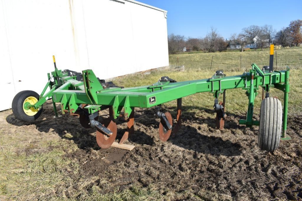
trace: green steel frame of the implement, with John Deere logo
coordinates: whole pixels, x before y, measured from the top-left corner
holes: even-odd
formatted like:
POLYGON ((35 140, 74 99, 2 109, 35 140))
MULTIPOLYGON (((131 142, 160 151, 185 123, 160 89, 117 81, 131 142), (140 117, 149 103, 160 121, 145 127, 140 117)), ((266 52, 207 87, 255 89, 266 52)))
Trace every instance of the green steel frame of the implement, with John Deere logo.
POLYGON ((254 101, 259 86, 269 91, 271 87, 284 92, 284 113, 282 138, 286 139, 288 93, 289 93, 289 68, 285 71, 268 72, 261 70, 255 63, 252 69, 243 75, 226 77, 225 75, 214 75, 209 79, 173 82, 158 81, 149 86, 132 88, 103 88, 92 70, 84 70, 83 81, 77 81, 76 76, 68 76, 56 68, 48 74, 48 82, 44 87, 39 101, 34 105, 28 103, 24 108, 41 108, 42 105, 52 98, 54 112, 57 116, 55 103, 61 103, 62 113, 74 113, 81 104, 88 104, 85 108, 89 113, 107 109, 113 106, 114 118, 120 116, 124 108, 124 116, 127 118, 135 107, 149 108, 169 101, 173 101, 195 93, 211 92, 218 98, 224 90, 242 88, 246 90, 249 97, 249 106, 246 120, 240 120, 240 124, 246 126, 259 126, 259 121, 252 120, 254 101), (51 81, 52 78, 54 81, 51 81), (46 92, 47 88, 50 91, 46 92), (152 101, 150 101, 152 100, 152 101))

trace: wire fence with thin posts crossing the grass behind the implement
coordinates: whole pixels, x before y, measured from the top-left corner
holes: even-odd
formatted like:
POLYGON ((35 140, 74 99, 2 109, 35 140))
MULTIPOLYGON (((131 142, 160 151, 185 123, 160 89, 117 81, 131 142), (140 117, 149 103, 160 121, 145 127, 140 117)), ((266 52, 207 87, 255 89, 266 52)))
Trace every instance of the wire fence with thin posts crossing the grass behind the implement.
MULTIPOLYGON (((193 54, 191 54, 193 55, 193 54)), ((190 55, 190 56, 191 56, 190 55)), ((260 68, 269 65, 267 55, 260 56, 232 56, 231 58, 221 58, 213 55, 204 58, 191 56, 192 58, 180 57, 170 58, 170 66, 184 66, 185 71, 198 70, 225 70, 225 71, 246 71, 251 68, 252 63, 256 63, 260 68)), ((300 55, 274 55, 274 69, 285 69, 289 66, 291 69, 302 68, 302 52, 300 55)))

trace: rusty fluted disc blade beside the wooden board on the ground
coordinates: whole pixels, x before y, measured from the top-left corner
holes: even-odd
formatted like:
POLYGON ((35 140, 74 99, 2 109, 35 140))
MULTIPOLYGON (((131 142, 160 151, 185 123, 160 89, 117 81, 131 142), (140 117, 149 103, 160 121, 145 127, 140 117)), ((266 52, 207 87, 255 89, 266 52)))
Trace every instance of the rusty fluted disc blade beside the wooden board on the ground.
POLYGON ((112 132, 112 136, 108 136, 99 130, 96 131, 96 142, 101 148, 105 149, 110 147, 115 141, 117 134, 117 126, 116 123, 110 117, 103 119, 101 121, 101 124, 112 132))

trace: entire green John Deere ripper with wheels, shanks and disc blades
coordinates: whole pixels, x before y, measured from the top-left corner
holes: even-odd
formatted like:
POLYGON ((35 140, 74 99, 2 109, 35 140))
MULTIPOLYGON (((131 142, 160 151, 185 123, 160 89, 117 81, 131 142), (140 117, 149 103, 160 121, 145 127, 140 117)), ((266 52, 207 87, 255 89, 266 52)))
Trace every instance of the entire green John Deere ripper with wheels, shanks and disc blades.
POLYGON ((239 124, 259 126, 258 145, 261 149, 275 151, 281 139, 286 137, 289 69, 273 71, 273 45, 271 45, 270 66, 260 69, 255 63, 252 69, 243 75, 226 77, 223 71, 217 71, 209 79, 176 82, 169 77, 162 77, 158 82, 141 87, 122 88, 112 82, 105 82, 95 76, 92 70, 77 73, 70 70, 58 70, 53 56, 55 71, 48 73, 48 82, 39 95, 34 91, 19 92, 12 102, 12 110, 16 118, 31 122, 36 120, 43 104, 52 98, 53 108, 57 116, 55 103, 61 103, 62 113, 79 116, 80 123, 85 128, 96 127, 96 141, 101 148, 108 148, 115 141, 117 126, 115 119, 124 116, 127 120, 127 132, 119 143, 122 144, 134 131, 134 108, 155 107, 155 113, 160 118, 159 138, 169 139, 171 133, 176 135, 181 125, 182 97, 200 92, 214 94, 214 110, 217 112, 217 129, 223 129, 225 121, 225 93, 227 89, 242 88, 249 98, 247 117, 239 124), (53 80, 53 81, 52 81, 53 80), (259 86, 262 91, 260 120, 253 120, 254 100, 259 86), (47 88, 50 91, 46 92, 47 88), (269 97, 271 87, 284 92, 284 109, 282 114, 281 102, 275 97, 269 97), (223 101, 219 102, 219 95, 223 101), (177 123, 172 126, 172 116, 169 112, 161 112, 163 103, 177 100, 177 123), (109 109, 109 117, 98 121, 100 110, 109 109), (124 110, 124 112, 122 112, 124 110), (282 126, 283 115, 283 126, 282 126))

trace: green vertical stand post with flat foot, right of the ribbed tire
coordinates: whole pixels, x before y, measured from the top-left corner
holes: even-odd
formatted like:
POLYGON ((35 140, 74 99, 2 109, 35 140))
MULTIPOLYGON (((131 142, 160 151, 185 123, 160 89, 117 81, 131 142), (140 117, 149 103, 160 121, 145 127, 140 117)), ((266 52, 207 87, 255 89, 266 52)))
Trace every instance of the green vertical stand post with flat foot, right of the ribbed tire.
POLYGON ((282 140, 291 139, 291 137, 286 136, 287 127, 287 112, 288 112, 288 92, 289 92, 289 69, 285 71, 284 80, 284 104, 283 104, 283 128, 282 128, 282 140))

